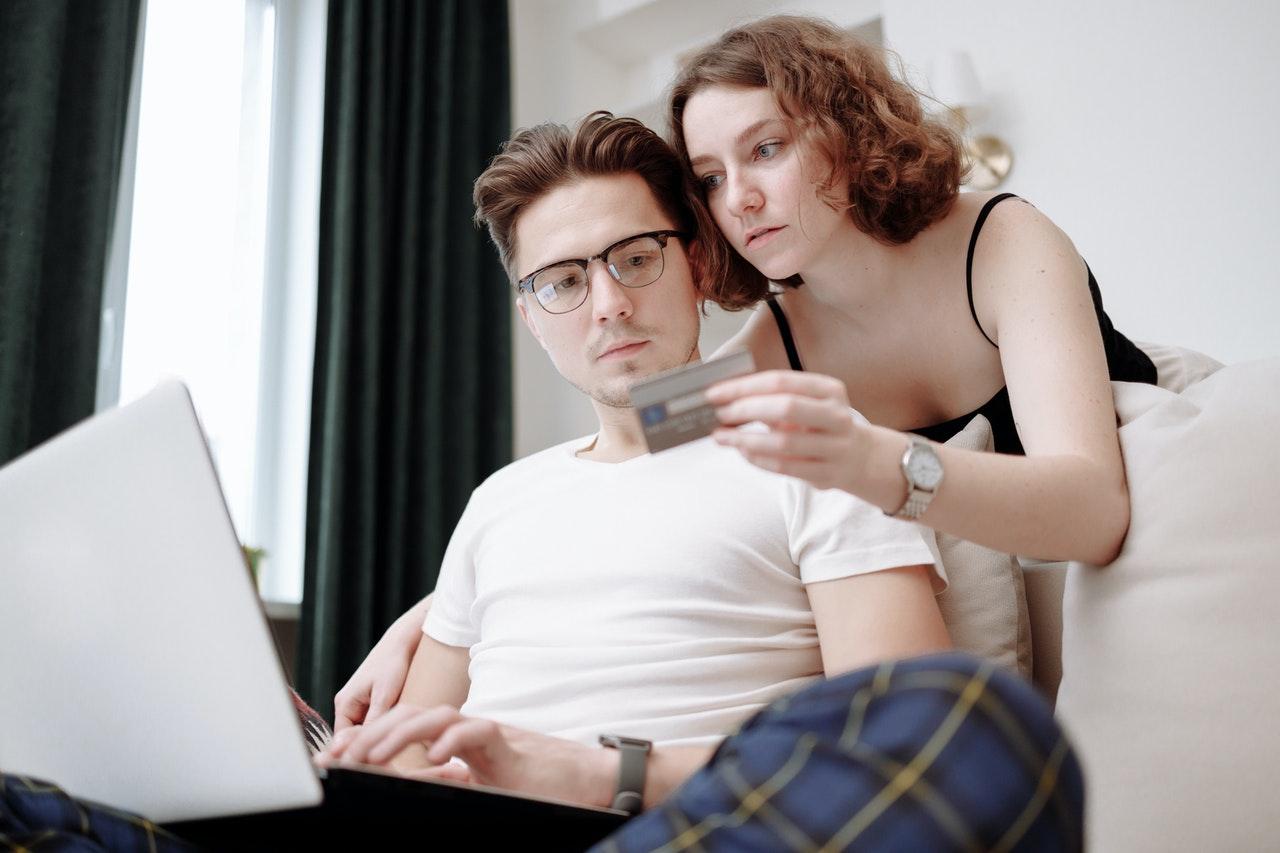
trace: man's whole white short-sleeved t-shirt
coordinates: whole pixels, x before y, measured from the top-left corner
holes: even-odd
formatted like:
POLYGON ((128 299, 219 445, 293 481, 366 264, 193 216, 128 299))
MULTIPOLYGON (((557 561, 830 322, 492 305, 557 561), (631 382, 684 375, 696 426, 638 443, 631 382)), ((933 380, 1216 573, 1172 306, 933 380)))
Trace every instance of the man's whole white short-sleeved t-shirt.
POLYGON ((709 438, 616 464, 589 441, 495 473, 458 521, 424 630, 471 649, 465 715, 710 745, 822 675, 806 583, 934 562, 914 524, 709 438))

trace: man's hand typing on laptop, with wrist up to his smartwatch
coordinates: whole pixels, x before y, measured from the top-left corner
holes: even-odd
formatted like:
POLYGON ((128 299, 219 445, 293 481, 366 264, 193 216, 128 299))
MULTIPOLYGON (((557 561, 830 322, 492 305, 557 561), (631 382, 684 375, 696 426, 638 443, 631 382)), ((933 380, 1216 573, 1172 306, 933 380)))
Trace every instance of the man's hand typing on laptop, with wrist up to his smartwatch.
POLYGON ((415 779, 452 779, 608 806, 618 774, 614 749, 462 716, 457 708, 398 704, 364 726, 335 735, 321 766, 384 766, 415 779), (449 763, 460 758, 466 766, 449 763))

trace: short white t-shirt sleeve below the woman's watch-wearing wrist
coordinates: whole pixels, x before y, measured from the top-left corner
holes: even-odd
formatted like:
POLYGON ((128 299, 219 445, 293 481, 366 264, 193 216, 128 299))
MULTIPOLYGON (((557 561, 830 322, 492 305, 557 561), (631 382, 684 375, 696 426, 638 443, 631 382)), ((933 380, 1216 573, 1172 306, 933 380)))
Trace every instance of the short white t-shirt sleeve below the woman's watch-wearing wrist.
POLYGON ((925 542, 928 532, 841 489, 819 491, 800 480, 788 485, 791 558, 803 583, 924 565, 932 570, 933 592, 946 589, 946 574, 925 542))

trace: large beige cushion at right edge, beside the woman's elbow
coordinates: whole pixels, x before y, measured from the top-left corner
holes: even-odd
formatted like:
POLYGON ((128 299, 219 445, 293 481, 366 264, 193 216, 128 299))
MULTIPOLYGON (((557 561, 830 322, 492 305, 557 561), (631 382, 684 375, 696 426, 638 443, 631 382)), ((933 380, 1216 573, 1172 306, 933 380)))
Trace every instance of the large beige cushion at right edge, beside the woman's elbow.
POLYGON ((1129 535, 1110 566, 1071 566, 1062 607, 1087 847, 1275 849, 1280 360, 1114 388, 1129 535))

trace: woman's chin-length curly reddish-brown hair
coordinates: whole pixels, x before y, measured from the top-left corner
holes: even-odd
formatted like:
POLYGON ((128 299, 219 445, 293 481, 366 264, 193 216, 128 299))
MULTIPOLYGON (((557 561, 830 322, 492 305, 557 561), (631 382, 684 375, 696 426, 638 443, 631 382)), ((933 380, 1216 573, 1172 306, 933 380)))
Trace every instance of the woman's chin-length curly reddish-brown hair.
MULTIPOLYGON (((890 73, 884 51, 815 18, 774 15, 730 29, 691 56, 671 91, 671 141, 687 169, 685 105, 709 86, 767 88, 782 118, 831 170, 819 197, 846 206, 859 229, 905 243, 951 209, 960 190, 960 140, 929 119, 919 93, 890 73)), ((687 192, 703 248, 704 295, 722 307, 754 305, 769 283, 719 233, 703 190, 687 192)), ((796 287, 794 275, 782 282, 796 287)))

